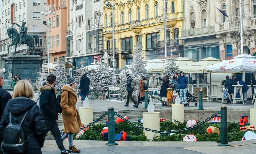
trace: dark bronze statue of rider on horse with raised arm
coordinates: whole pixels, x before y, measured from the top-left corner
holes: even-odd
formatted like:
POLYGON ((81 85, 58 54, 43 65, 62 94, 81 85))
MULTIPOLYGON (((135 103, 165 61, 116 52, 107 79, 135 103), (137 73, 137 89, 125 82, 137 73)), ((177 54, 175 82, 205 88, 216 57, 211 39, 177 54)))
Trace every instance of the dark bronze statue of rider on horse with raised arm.
POLYGON ((35 39, 35 42, 39 46, 38 35, 27 34, 27 27, 25 26, 26 22, 24 22, 24 20, 22 21, 22 26, 20 26, 17 23, 11 23, 11 24, 15 24, 15 25, 19 26, 20 32, 18 32, 13 27, 7 29, 9 38, 12 38, 12 43, 7 48, 8 53, 9 53, 10 46, 14 45, 14 52, 13 52, 13 55, 14 55, 18 44, 26 44, 29 47, 28 50, 26 51, 26 54, 28 55, 28 51, 33 48, 33 55, 34 55, 35 54, 35 46, 33 45, 33 43, 34 43, 34 39, 35 39))

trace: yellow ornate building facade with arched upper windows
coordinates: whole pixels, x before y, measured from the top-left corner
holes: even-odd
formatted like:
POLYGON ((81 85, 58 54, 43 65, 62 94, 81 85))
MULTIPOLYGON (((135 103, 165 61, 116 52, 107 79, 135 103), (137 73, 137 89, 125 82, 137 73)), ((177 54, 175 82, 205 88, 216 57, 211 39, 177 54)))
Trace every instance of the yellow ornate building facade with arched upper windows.
MULTIPOLYGON (((114 24, 115 68, 131 65, 137 43, 142 44, 143 60, 165 55, 163 0, 104 1, 104 51, 112 55, 112 24, 114 24), (113 20, 114 19, 114 20, 113 20)), ((184 25, 183 1, 167 0, 167 55, 183 56, 180 31, 184 25)), ((113 65, 111 63, 111 65, 113 65)))

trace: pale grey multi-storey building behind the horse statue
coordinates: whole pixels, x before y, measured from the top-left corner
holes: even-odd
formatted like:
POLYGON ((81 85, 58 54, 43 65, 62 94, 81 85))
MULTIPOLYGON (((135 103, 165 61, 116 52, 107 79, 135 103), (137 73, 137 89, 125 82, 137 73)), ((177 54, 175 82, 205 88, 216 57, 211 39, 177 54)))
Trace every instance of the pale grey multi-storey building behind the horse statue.
MULTIPOLYGON (((11 19, 13 22, 22 24, 25 20, 25 26, 27 27, 27 33, 30 35, 39 36, 39 47, 35 44, 35 54, 42 55, 42 44, 45 43, 43 39, 43 31, 45 31, 45 25, 42 23, 45 20, 45 16, 41 15, 40 12, 43 9, 43 4, 47 0, 2 0, 1 6, 1 51, 0 51, 0 69, 4 68, 3 58, 7 56, 7 48, 11 43, 11 39, 8 37, 7 30, 4 28, 5 25, 10 25, 5 21, 11 19)), ((16 25, 15 25, 16 26, 16 25)), ((20 28, 16 26, 19 31, 20 28)), ((16 54, 26 54, 25 51, 28 49, 27 45, 18 45, 16 54)), ((14 46, 10 47, 10 52, 14 51, 14 46)))

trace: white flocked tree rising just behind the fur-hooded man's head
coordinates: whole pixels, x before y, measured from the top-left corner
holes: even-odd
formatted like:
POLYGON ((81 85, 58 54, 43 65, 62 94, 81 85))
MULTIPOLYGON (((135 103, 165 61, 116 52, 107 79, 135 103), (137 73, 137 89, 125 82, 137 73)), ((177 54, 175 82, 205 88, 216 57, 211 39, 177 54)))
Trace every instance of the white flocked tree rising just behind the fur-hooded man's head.
POLYGON ((56 75, 56 95, 59 95, 62 91, 62 87, 67 83, 67 71, 65 69, 65 59, 61 57, 57 66, 54 68, 53 74, 56 75))

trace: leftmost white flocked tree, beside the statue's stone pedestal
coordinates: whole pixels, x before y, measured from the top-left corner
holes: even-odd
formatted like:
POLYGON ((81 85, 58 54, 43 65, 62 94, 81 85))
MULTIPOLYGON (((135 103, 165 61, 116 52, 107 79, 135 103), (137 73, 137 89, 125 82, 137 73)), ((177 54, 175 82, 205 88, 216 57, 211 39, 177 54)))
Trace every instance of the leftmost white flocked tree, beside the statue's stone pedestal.
POLYGON ((35 93, 38 93, 38 88, 44 84, 44 82, 47 81, 47 76, 49 75, 47 67, 40 68, 40 71, 38 72, 39 76, 35 83, 33 84, 33 89, 35 93))

